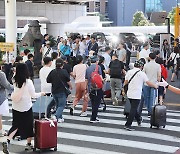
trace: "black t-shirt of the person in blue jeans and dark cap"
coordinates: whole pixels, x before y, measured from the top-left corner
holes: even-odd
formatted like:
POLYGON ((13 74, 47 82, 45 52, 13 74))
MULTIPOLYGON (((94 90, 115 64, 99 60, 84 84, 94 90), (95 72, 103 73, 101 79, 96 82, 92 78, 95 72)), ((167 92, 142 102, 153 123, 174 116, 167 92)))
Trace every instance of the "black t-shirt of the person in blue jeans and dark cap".
POLYGON ((67 82, 69 81, 70 77, 65 69, 56 68, 52 70, 47 77, 47 83, 52 83, 52 94, 65 92, 64 85, 68 87, 67 82))

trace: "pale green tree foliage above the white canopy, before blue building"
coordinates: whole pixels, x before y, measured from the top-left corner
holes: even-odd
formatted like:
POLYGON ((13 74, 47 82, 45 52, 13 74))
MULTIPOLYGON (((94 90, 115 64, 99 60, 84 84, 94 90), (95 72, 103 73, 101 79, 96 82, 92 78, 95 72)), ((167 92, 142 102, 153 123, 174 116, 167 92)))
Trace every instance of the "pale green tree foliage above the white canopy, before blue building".
POLYGON ((144 16, 144 13, 142 11, 137 11, 133 15, 133 26, 152 26, 153 23, 150 23, 147 18, 144 16))

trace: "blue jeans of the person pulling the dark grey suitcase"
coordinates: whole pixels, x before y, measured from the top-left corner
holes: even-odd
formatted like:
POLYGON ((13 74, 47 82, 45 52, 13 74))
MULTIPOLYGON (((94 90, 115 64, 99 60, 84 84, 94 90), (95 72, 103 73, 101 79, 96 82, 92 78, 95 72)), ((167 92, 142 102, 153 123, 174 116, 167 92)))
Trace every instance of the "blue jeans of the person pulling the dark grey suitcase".
POLYGON ((143 87, 143 93, 144 93, 144 103, 147 107, 148 114, 152 113, 152 107, 155 103, 156 99, 156 89, 149 87, 149 86, 144 86, 143 87))

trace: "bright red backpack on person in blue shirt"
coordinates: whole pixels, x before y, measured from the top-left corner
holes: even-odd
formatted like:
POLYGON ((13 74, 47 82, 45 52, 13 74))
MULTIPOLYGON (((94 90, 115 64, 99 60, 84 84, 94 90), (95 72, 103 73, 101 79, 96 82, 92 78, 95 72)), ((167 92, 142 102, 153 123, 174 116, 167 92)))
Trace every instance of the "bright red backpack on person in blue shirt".
POLYGON ((103 87, 102 77, 98 73, 98 65, 95 70, 91 73, 91 86, 92 89, 101 89, 103 87))

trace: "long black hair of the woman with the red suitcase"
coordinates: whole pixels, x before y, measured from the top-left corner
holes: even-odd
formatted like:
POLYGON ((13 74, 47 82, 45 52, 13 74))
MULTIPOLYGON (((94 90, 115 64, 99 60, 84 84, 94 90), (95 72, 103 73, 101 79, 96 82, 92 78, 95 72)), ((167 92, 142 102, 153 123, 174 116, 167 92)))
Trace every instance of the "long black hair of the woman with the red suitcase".
POLYGON ((24 63, 19 63, 16 66, 16 74, 14 76, 15 84, 18 88, 21 88, 26 79, 29 79, 29 72, 27 65, 24 63))

